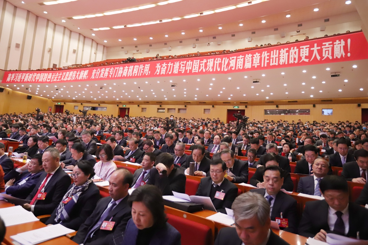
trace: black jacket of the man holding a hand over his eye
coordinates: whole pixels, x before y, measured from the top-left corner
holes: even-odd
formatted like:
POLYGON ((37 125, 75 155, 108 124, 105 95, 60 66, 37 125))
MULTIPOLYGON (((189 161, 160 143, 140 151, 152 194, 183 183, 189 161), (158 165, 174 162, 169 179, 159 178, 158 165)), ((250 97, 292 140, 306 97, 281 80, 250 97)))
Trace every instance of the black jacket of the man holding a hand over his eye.
POLYGON ((149 174, 147 184, 156 185, 163 196, 173 195, 173 191, 185 193, 185 177, 184 170, 178 165, 174 165, 174 169, 170 175, 162 175, 156 168, 152 168, 149 174))

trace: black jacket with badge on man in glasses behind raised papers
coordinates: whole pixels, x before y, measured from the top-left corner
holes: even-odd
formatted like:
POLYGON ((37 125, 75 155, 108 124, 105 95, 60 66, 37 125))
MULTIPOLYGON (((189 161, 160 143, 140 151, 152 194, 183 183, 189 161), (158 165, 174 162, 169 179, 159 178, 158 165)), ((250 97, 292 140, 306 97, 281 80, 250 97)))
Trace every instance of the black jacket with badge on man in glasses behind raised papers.
POLYGON ((195 195, 210 197, 216 211, 226 213, 225 208, 231 209, 231 205, 238 195, 238 187, 236 187, 236 185, 231 183, 228 179, 224 178, 221 185, 217 189, 214 189, 211 177, 205 177, 201 179, 201 183, 199 184, 197 193, 195 195), (223 200, 215 198, 216 191, 225 193, 223 200))

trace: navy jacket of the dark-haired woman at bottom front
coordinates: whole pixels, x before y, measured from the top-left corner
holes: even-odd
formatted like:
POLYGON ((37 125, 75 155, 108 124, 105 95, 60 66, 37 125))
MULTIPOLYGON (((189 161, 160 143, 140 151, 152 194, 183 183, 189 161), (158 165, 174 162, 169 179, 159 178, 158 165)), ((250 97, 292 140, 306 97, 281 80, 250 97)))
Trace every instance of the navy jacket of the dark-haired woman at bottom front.
MULTIPOLYGON (((114 244, 137 244, 138 228, 132 219, 128 221, 124 237, 114 239, 114 244)), ((150 245, 180 245, 180 233, 169 223, 158 229, 152 236, 150 245)))

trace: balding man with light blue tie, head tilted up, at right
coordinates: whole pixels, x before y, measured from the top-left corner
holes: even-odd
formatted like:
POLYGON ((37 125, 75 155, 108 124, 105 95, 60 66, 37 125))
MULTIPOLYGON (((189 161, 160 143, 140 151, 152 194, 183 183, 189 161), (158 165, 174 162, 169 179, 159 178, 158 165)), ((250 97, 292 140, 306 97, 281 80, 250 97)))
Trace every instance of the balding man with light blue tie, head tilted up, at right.
POLYGON ((297 192, 321 197, 319 181, 328 174, 330 170, 329 164, 325 159, 317 158, 312 165, 312 170, 313 175, 299 179, 297 192))

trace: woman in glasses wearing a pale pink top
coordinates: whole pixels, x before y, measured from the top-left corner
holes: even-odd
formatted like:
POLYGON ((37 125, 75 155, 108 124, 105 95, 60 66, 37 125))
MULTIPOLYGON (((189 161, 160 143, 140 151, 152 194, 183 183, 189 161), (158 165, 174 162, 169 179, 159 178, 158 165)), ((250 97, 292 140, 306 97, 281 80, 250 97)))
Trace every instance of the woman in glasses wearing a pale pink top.
POLYGON ((113 162, 113 148, 109 144, 101 145, 96 151, 96 157, 100 160, 93 167, 96 175, 103 180, 109 181, 110 176, 117 169, 116 164, 113 162))

